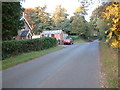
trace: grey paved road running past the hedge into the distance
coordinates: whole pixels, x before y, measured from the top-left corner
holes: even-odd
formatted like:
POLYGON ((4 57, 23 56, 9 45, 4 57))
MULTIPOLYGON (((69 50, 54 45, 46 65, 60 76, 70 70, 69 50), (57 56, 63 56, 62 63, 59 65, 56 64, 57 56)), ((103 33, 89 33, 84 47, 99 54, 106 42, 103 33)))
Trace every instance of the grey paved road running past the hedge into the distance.
POLYGON ((99 43, 76 43, 3 71, 3 88, 99 88, 99 43))

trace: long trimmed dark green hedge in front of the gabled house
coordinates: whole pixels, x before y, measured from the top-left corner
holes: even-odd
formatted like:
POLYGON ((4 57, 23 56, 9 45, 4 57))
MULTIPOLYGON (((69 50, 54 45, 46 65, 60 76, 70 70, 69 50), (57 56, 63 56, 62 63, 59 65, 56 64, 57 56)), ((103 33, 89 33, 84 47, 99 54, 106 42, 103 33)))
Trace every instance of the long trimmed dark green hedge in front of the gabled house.
POLYGON ((54 37, 3 41, 2 60, 25 52, 48 49, 56 45, 57 45, 57 40, 54 37))

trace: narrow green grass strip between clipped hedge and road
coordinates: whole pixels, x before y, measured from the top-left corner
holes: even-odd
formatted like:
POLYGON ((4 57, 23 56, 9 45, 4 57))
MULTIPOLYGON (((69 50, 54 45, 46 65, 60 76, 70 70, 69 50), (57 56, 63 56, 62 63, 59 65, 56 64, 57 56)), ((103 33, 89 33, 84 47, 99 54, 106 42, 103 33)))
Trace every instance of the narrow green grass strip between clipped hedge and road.
POLYGON ((2 63, 2 68, 0 67, 0 70, 1 69, 4 70, 4 69, 7 69, 9 67, 15 66, 17 64, 21 64, 21 63, 30 61, 32 59, 35 59, 37 57, 43 56, 45 54, 48 54, 50 52, 53 52, 53 51, 56 51, 56 50, 59 50, 59 49, 62 49, 62 48, 63 47, 61 47, 61 46, 56 46, 56 47, 49 48, 49 49, 42 50, 42 51, 34 51, 34 52, 29 52, 29 53, 23 53, 23 54, 18 55, 18 56, 7 58, 3 61, 0 61, 0 64, 2 63))

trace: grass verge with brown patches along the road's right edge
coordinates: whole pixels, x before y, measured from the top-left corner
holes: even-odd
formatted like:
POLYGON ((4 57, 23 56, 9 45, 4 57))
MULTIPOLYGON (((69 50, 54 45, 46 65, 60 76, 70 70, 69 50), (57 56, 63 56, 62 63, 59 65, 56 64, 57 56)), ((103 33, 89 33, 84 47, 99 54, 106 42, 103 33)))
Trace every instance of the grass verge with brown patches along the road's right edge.
POLYGON ((118 88, 118 54, 112 48, 100 43, 102 68, 106 74, 108 88, 118 88))

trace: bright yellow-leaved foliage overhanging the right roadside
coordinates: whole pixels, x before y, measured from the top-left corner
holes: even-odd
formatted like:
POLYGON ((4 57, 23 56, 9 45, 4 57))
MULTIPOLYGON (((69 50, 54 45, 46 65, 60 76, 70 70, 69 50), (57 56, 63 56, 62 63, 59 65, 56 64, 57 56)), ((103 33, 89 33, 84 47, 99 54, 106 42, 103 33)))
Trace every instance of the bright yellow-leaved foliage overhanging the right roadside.
POLYGON ((118 2, 104 3, 93 11, 91 21, 101 37, 113 48, 120 48, 119 30, 119 6, 118 2))

